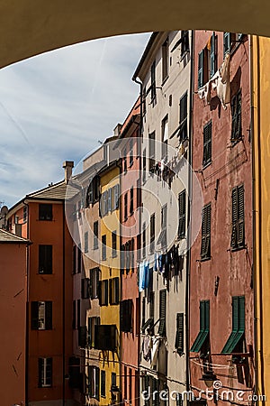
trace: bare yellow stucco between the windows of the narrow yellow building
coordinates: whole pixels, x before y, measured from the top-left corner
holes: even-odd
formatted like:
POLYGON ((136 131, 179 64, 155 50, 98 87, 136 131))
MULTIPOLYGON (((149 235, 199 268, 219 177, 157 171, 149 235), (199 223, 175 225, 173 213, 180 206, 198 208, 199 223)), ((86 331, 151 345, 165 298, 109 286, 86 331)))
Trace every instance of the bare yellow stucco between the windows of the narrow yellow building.
MULTIPOLYGON (((101 176, 101 193, 106 189, 112 188, 119 183, 119 168, 113 167, 111 170, 106 171, 101 176)), ((120 275, 120 258, 112 258, 112 231, 117 233, 117 249, 119 250, 119 234, 120 234, 120 212, 119 209, 110 212, 108 215, 101 218, 101 236, 106 235, 107 243, 107 258, 101 261, 101 280, 110 280, 111 278, 121 277, 120 275)), ((121 283, 121 282, 120 282, 121 283)), ((119 285, 120 286, 120 285, 119 285)), ((115 324, 117 327, 117 352, 106 352, 100 360, 100 370, 105 371, 105 389, 106 397, 100 398, 101 405, 112 403, 112 373, 116 374, 116 384, 120 387, 120 309, 119 305, 101 306, 100 309, 101 324, 115 324)), ((116 403, 118 400, 116 400, 116 403)))

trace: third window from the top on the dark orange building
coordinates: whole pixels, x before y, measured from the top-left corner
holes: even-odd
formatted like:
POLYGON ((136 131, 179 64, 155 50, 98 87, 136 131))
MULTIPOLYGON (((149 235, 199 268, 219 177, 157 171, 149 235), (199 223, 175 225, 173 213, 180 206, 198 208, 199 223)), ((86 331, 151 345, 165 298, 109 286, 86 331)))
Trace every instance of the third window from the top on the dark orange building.
POLYGON ((31 302, 31 329, 51 330, 52 328, 52 301, 31 302))

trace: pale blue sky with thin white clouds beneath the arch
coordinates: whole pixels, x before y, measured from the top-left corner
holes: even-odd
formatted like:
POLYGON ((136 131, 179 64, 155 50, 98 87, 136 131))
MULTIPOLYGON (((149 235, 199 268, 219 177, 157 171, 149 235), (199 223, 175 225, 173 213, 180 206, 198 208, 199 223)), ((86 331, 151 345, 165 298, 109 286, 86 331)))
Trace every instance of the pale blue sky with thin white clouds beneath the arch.
POLYGON ((149 33, 83 42, 0 70, 0 207, 64 178, 139 96, 149 33))

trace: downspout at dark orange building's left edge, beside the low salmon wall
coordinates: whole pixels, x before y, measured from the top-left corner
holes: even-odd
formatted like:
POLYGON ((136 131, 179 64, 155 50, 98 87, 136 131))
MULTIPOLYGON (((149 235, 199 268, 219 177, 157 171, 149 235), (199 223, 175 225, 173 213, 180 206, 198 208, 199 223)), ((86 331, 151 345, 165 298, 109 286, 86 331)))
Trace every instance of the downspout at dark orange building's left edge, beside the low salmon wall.
MULTIPOLYGON (((30 224, 29 224, 29 204, 23 205, 27 208, 27 238, 30 240, 30 224)), ((30 274, 30 245, 26 248, 26 331, 25 331, 25 406, 29 404, 29 390, 28 390, 28 365, 29 365, 29 274, 30 274)))

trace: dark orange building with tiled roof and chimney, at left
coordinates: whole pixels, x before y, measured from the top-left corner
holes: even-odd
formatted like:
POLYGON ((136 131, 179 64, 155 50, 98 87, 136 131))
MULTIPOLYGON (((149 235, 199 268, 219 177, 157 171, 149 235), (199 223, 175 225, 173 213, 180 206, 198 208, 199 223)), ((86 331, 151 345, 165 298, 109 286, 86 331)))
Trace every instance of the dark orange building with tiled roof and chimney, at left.
MULTIPOLYGON (((66 175, 73 162, 66 162, 66 175), (69 168, 68 168, 69 167, 69 168)), ((10 209, 8 228, 31 239, 26 310, 25 404, 72 405, 72 239, 65 180, 27 195, 10 209), (64 403, 65 402, 65 403, 64 403)))

